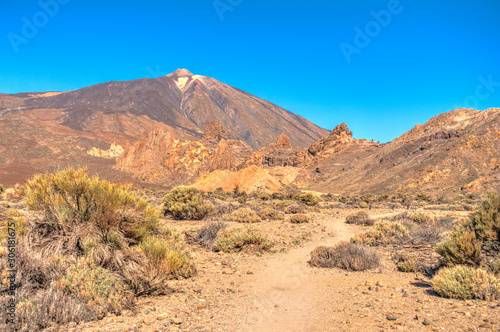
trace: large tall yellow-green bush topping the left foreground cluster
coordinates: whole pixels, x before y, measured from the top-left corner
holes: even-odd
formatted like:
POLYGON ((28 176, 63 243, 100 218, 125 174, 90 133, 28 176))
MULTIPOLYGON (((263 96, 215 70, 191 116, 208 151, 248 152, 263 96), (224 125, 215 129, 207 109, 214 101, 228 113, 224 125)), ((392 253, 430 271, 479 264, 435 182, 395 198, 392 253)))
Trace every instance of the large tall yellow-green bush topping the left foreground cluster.
POLYGON ((136 196, 131 186, 91 178, 85 169, 36 175, 28 181, 26 203, 43 219, 31 225, 30 236, 50 255, 55 248, 81 254, 80 244, 90 240, 110 249, 117 238, 123 246, 140 242, 158 230, 158 213, 136 196))

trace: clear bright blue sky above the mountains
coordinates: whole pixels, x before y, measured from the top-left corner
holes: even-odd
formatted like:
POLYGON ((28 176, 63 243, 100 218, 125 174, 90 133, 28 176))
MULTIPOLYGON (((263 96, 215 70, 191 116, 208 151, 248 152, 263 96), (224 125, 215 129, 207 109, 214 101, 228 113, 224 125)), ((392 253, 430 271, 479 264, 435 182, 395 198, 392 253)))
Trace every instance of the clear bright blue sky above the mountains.
POLYGON ((187 68, 324 128, 346 122, 355 137, 381 142, 456 107, 500 107, 498 0, 0 6, 3 93, 67 91, 187 68))

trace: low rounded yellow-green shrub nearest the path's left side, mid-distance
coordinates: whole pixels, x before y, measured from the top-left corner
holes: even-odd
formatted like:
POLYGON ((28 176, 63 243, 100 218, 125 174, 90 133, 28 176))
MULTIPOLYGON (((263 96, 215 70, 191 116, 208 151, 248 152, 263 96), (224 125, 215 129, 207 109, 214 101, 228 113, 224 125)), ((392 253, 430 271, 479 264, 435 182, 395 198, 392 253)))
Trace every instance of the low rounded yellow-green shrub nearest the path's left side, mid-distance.
POLYGON ((219 232, 215 240, 216 251, 237 252, 246 246, 268 249, 271 244, 267 236, 250 227, 235 227, 219 232))

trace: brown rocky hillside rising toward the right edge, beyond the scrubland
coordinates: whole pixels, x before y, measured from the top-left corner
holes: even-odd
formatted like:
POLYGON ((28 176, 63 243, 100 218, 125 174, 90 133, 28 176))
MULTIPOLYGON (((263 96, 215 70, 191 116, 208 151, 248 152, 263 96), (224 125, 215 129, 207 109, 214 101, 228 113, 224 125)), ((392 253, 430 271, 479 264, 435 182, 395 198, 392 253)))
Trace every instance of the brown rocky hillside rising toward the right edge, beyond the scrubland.
MULTIPOLYGON (((318 146, 327 146, 325 141, 313 144, 313 151, 323 151, 318 146)), ((309 164, 301 185, 346 193, 433 195, 500 189, 498 108, 440 114, 383 145, 364 141, 341 150, 333 146, 333 153, 319 153, 309 164)))

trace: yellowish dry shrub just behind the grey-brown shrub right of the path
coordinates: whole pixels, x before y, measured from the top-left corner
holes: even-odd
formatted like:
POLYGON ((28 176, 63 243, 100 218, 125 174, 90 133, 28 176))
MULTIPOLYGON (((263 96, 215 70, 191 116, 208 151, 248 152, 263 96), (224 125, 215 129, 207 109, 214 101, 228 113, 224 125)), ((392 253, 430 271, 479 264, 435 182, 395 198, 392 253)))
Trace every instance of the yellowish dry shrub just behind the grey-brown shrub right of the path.
POLYGON ((401 223, 381 220, 375 222, 373 230, 354 235, 351 238, 351 242, 378 246, 402 243, 408 240, 409 237, 410 233, 408 229, 401 223))

